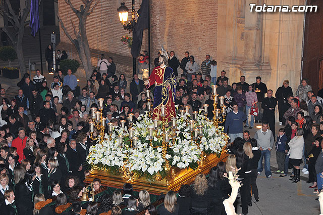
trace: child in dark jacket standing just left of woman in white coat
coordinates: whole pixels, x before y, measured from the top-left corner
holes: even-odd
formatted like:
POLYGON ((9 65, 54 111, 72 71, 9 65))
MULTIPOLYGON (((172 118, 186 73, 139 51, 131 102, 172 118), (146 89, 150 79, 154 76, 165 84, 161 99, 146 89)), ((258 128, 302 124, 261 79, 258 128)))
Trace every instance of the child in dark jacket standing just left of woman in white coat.
POLYGON ((286 141, 287 136, 285 135, 285 128, 282 127, 279 130, 276 142, 276 160, 278 164, 277 173, 284 172, 286 141))

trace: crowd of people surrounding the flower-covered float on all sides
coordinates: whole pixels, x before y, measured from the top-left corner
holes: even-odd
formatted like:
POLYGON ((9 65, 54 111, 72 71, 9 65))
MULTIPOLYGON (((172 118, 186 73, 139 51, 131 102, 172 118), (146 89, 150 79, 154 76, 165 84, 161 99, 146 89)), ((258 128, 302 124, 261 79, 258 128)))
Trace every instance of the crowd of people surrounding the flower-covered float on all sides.
MULTIPOLYGON (((93 70, 81 92, 77 90, 78 81, 71 69, 65 76, 58 70, 48 84, 39 70, 34 77, 26 73, 18 83, 20 89, 14 98, 9 98, 6 90, 1 89, 1 214, 49 214, 34 209, 33 203, 54 196, 55 207, 73 202, 74 214, 79 212, 81 206, 84 207, 75 200, 84 191, 82 182, 88 174, 86 157, 90 146, 96 144, 89 138, 91 108, 98 108, 97 99, 103 98, 103 116, 106 123, 112 122, 115 127, 120 126, 121 120, 127 120, 130 113, 134 114, 135 120, 144 114, 147 111, 144 87, 144 80, 148 78, 147 59, 147 53, 140 55, 138 64, 145 65, 133 75, 130 83, 125 74, 119 77, 115 74, 113 59, 106 60, 102 55, 97 70, 93 70)), ((158 65, 158 58, 154 63, 158 65)), ((105 199, 101 198, 99 207, 96 203, 89 203, 86 205, 87 214, 98 214, 97 211, 103 210, 120 214, 121 202, 127 207, 123 214, 136 214, 142 210, 146 210, 146 215, 225 214, 222 202, 229 197, 231 187, 224 173, 232 171, 232 168, 234 171, 240 168, 241 206, 243 214, 247 214, 248 206, 252 205, 250 193, 259 201, 256 178, 263 170, 263 159, 265 175, 268 179, 272 177, 270 158, 274 147, 277 173, 281 177, 287 176, 288 169, 293 168, 292 181, 299 182, 300 165, 303 163, 302 171, 308 174, 308 183, 313 183, 310 188, 322 189, 323 99, 312 91, 306 79, 302 80, 295 96, 289 81, 284 80, 275 98, 273 90, 267 89, 260 76, 252 84, 245 82, 246 77, 241 76, 240 82, 232 82, 231 85, 225 70, 217 77, 217 62, 211 61, 209 55, 199 66, 188 52, 181 62, 171 52, 168 63, 176 76, 179 76, 178 67, 183 70, 177 78, 174 102, 179 109, 188 106, 191 115, 192 111, 199 111, 204 104, 208 104, 207 117, 213 117, 211 85, 218 86, 217 93, 219 97, 224 97, 226 105, 224 131, 231 140, 228 147, 231 154, 227 162, 213 167, 208 179, 198 175, 191 187, 183 185, 177 197, 170 191, 158 209, 150 205, 147 191, 140 191, 136 197, 132 195, 132 186, 126 184, 123 197, 118 191, 112 196, 104 196, 105 199), (277 105, 282 127, 276 136, 277 105), (251 139, 249 130, 255 123, 261 123, 262 128, 251 139)), ((153 98, 152 93, 150 97, 153 98)), ((94 129, 93 137, 98 135, 94 129)), ((98 179, 95 182, 98 187, 101 186, 98 179)), ((55 213, 55 209, 51 211, 55 213)))

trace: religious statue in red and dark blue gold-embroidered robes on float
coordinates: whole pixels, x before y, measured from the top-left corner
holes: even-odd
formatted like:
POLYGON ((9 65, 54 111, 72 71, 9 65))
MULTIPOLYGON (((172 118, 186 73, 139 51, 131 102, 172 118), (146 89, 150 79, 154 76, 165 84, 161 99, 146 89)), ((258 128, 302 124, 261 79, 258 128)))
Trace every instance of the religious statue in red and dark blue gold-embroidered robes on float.
POLYGON ((161 120, 160 106, 166 106, 167 122, 171 121, 175 114, 175 92, 176 92, 176 77, 171 67, 166 66, 168 54, 165 50, 160 51, 161 55, 158 59, 159 66, 155 67, 150 74, 150 77, 145 80, 144 85, 149 88, 155 84, 153 96, 153 113, 152 118, 161 120))

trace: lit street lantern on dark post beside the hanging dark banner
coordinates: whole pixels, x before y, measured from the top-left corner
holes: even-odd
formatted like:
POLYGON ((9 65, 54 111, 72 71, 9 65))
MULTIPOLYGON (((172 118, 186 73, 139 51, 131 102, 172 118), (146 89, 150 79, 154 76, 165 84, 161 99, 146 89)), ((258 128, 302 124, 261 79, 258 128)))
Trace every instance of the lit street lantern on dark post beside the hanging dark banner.
MULTIPOLYGON (((128 21, 128 12, 129 9, 125 6, 125 3, 121 3, 121 6, 117 9, 119 13, 119 19, 120 22, 122 22, 123 27, 125 30, 129 30, 129 33, 132 32, 132 38, 134 37, 134 29, 136 25, 135 20, 135 0, 132 0, 132 9, 131 9, 131 20, 128 24, 126 22, 128 21)), ((150 54, 150 53, 149 53, 150 54)), ((136 74, 136 59, 132 57, 132 68, 133 68, 133 74, 136 74)))

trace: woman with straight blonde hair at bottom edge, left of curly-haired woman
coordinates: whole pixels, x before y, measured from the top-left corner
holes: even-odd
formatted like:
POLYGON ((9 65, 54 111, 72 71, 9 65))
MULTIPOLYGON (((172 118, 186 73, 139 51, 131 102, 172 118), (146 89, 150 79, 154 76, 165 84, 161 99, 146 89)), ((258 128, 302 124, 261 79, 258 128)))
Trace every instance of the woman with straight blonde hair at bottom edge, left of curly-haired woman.
POLYGON ((164 204, 160 205, 157 209, 158 214, 177 215, 180 206, 177 204, 176 193, 174 191, 168 191, 164 204))

